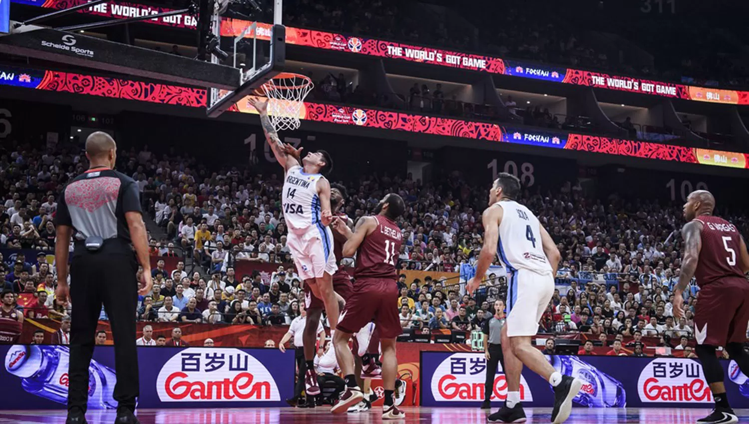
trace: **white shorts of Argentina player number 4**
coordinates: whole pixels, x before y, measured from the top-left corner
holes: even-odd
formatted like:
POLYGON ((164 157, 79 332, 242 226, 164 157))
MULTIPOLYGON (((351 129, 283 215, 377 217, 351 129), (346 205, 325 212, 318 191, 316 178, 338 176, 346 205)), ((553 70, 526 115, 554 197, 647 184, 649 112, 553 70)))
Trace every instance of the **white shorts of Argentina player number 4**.
POLYGON ((535 336, 539 321, 554 295, 551 273, 538 274, 528 269, 507 272, 507 337, 535 336))

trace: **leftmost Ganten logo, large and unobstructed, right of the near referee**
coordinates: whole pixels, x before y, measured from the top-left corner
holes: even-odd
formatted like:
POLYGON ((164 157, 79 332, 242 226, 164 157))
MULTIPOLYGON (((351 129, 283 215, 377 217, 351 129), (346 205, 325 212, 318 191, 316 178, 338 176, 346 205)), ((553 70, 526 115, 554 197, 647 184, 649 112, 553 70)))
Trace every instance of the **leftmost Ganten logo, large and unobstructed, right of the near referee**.
POLYGON ((276 381, 251 354, 239 349, 187 348, 159 372, 162 402, 273 402, 276 381))

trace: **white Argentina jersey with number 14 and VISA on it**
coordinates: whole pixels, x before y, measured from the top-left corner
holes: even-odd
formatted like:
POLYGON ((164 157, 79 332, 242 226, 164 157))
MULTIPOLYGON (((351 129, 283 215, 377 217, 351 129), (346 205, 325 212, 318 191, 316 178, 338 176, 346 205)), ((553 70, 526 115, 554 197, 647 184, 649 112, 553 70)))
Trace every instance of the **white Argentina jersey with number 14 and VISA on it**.
POLYGON ((289 168, 283 183, 281 208, 289 230, 305 232, 320 222, 320 173, 305 173, 299 165, 289 168))

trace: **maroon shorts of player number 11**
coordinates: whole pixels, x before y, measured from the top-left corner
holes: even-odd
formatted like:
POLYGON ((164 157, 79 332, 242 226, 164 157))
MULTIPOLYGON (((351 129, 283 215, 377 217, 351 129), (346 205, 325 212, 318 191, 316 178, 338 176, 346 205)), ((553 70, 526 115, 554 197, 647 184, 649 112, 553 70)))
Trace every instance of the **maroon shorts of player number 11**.
POLYGON ((337 330, 356 333, 374 321, 381 339, 403 333, 398 319, 398 285, 392 278, 357 278, 357 289, 346 301, 337 330))

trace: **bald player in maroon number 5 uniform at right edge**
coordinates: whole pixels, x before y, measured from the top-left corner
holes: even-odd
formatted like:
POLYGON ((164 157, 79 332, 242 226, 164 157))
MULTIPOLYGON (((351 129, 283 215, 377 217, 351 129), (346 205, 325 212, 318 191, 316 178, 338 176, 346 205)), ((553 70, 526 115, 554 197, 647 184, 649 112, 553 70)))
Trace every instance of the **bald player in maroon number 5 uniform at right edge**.
POLYGON ((715 349, 724 346, 739 369, 749 375, 749 354, 744 351, 749 322, 749 253, 736 226, 712 215, 715 197, 709 191, 692 191, 684 205, 687 224, 682 228, 684 259, 679 283, 673 292, 673 315, 683 314, 683 293, 694 276, 700 286, 694 311, 697 357, 703 364, 715 409, 697 423, 738 423, 726 397, 723 367, 715 349))

